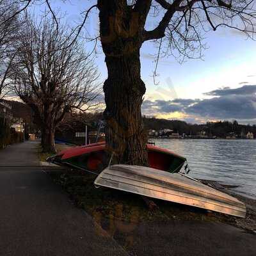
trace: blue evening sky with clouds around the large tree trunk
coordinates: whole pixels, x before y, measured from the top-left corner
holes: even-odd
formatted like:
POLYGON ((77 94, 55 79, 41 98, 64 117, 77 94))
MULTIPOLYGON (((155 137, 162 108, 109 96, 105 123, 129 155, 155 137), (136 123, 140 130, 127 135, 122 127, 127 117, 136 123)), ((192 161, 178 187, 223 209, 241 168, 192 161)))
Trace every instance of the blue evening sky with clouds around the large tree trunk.
MULTIPOLYGON (((70 26, 79 24, 81 12, 95 1, 52 1, 52 8, 65 13, 70 26)), ((33 7, 40 13, 46 6, 33 7)), ((99 20, 92 10, 86 22, 86 32, 97 35, 99 20)), ((154 28, 157 20, 151 17, 147 26, 154 28)), ((191 123, 218 120, 237 120, 243 124, 256 124, 256 42, 231 29, 218 29, 205 34, 203 58, 180 64, 173 56, 161 58, 157 67, 157 85, 152 72, 156 66, 157 47, 146 42, 141 48, 141 77, 147 92, 141 111, 157 118, 179 119, 191 123)), ((92 44, 86 44, 88 51, 92 44)), ((97 46, 95 63, 100 80, 108 76, 104 54, 97 46)))

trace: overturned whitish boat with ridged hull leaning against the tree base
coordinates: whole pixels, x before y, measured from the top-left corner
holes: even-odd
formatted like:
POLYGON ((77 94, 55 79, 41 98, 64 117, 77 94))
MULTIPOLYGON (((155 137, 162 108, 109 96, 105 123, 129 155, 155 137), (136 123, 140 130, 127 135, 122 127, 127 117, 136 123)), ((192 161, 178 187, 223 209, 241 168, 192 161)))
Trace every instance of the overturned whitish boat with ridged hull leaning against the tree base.
POLYGON ((243 202, 180 173, 116 164, 101 172, 94 184, 242 218, 246 214, 243 202))

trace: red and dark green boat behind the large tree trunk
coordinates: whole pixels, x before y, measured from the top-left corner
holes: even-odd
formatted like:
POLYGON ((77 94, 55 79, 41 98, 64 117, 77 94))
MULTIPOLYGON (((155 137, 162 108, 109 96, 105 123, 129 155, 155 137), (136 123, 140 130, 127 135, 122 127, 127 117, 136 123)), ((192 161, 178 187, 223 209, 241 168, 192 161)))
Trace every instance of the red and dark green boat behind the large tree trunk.
MULTIPOLYGON (((147 150, 148 163, 151 168, 176 173, 186 161, 186 158, 165 148, 147 144, 147 150)), ((105 141, 69 148, 47 160, 56 164, 68 164, 90 172, 101 172, 109 164, 105 141)))

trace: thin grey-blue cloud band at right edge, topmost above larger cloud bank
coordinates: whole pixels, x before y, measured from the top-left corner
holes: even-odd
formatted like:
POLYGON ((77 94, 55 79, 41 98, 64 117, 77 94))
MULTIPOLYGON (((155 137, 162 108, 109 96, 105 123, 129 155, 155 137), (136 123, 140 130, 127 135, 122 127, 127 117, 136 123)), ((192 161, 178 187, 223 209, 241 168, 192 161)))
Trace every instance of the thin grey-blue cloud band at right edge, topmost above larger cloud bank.
POLYGON ((204 95, 208 95, 208 96, 251 95, 253 93, 256 93, 256 85, 244 85, 236 89, 225 87, 223 89, 218 89, 218 90, 204 93, 204 95))

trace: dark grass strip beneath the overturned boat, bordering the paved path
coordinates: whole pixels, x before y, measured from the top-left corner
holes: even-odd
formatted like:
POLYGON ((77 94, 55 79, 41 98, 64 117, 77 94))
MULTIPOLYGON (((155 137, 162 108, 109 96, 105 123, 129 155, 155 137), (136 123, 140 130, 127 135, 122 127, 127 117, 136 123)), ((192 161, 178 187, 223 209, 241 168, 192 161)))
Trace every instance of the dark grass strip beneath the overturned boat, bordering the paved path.
POLYGON ((149 211, 140 195, 125 193, 115 189, 95 188, 95 175, 83 171, 65 173, 49 172, 52 179, 60 184, 74 200, 77 207, 84 209, 93 218, 122 221, 168 221, 168 220, 204 220, 233 223, 236 218, 196 207, 175 204, 154 199, 159 207, 149 211))

